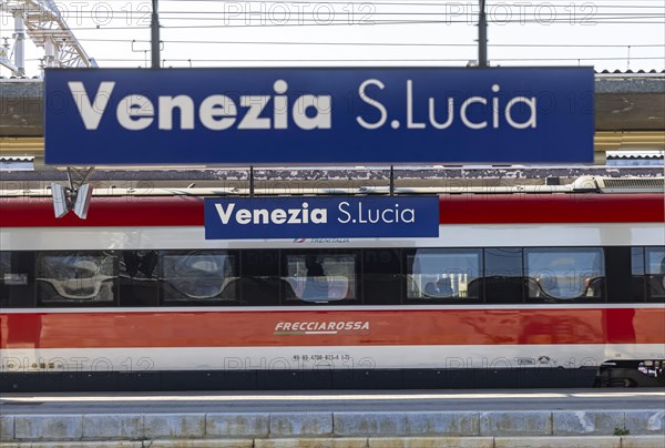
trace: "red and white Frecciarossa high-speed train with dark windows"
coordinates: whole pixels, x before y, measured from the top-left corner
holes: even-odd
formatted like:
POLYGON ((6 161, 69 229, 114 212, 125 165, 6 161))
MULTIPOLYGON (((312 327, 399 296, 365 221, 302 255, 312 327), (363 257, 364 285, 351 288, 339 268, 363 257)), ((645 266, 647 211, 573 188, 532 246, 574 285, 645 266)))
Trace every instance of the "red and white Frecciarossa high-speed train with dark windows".
POLYGON ((663 192, 446 194, 411 240, 206 241, 197 196, 85 221, 0 200, 4 391, 664 384, 663 192))

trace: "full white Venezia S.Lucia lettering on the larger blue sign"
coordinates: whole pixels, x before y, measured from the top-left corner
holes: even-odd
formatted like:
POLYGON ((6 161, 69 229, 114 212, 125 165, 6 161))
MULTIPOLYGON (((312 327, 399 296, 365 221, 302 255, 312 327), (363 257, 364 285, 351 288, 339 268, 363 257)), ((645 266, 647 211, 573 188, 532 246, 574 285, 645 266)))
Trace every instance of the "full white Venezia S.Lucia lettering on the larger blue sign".
MULTIPOLYGON (((88 95, 82 82, 71 81, 68 86, 85 129, 98 130, 106 116, 115 82, 100 82, 93 99, 88 95)), ((386 83, 375 78, 360 83, 358 96, 372 108, 374 116, 369 119, 357 115, 356 122, 366 130, 378 130, 388 122, 393 129, 400 128, 398 120, 388 120, 392 116, 391 113, 378 99, 370 96, 368 88, 379 91, 388 89, 386 83)), ((287 82, 277 80, 273 84, 273 95, 246 94, 234 100, 219 93, 205 96, 198 104, 186 94, 158 95, 156 100, 151 100, 146 95, 132 93, 117 100, 115 116, 119 124, 127 131, 142 131, 154 124, 161 131, 194 130, 197 125, 211 131, 286 130, 289 125, 303 131, 332 129, 331 95, 301 94, 291 99, 293 104, 289 104, 287 91, 287 82), (156 106, 153 101, 156 101, 156 106), (174 118, 178 119, 177 122, 174 118)), ((402 115, 409 130, 446 130, 456 121, 470 130, 502 126, 526 130, 538 126, 536 98, 500 96, 499 84, 492 84, 493 94, 487 96, 429 96, 418 101, 421 96, 416 91, 413 80, 407 80, 406 110, 402 115)), ((376 93, 374 92, 375 95, 376 93)))

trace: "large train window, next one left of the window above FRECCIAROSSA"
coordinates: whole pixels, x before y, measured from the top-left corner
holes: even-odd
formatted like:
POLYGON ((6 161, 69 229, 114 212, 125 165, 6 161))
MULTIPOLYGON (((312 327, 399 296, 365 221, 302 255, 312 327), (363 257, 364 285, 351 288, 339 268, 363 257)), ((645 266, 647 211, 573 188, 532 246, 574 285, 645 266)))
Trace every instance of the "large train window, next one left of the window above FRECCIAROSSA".
POLYGON ((226 251, 160 253, 162 301, 177 304, 223 304, 238 299, 236 256, 226 251))

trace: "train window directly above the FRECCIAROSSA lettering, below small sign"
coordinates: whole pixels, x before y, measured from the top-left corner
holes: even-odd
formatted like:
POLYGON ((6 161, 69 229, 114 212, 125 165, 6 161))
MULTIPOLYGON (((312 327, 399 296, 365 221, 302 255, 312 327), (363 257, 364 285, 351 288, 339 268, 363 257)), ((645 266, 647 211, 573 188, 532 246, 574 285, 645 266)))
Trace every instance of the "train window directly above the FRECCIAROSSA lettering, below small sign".
POLYGON ((356 299, 357 254, 286 254, 286 277, 291 294, 285 298, 308 303, 356 299))

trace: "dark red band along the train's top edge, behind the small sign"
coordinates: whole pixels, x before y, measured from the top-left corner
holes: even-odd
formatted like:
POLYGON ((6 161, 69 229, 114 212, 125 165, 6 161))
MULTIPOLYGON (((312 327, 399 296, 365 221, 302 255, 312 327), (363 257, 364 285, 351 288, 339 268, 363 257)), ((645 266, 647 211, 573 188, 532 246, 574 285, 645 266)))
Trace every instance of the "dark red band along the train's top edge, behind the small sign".
MULTIPOLYGON (((88 220, 53 216, 50 197, 0 200, 1 227, 201 226, 203 198, 94 197, 88 220)), ((439 198, 440 224, 662 223, 663 194, 488 194, 439 198)))

